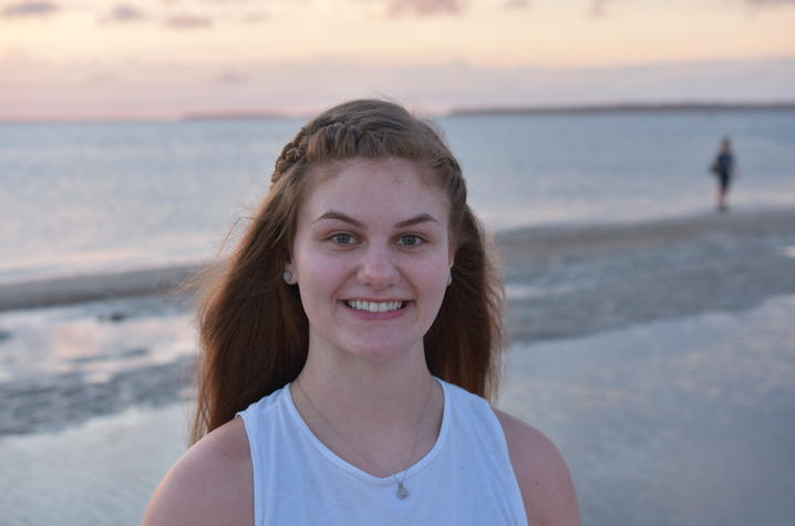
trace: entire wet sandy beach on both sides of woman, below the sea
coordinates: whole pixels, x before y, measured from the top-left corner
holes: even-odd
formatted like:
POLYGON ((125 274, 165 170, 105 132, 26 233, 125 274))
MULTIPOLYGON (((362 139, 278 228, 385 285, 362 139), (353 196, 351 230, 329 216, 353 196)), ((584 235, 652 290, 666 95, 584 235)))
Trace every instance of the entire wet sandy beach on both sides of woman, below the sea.
MULTIPOLYGON (((792 524, 795 208, 494 244, 497 405, 559 445, 584 524, 792 524)), ((196 341, 175 290, 205 265, 0 285, 0 524, 140 520, 186 445, 196 341)))

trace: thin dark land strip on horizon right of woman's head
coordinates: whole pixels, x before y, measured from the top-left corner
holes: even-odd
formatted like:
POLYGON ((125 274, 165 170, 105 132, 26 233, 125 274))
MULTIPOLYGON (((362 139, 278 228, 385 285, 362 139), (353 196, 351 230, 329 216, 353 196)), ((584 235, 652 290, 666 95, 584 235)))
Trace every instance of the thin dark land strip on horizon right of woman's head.
POLYGON ((458 107, 450 111, 448 116, 472 115, 557 115, 584 113, 641 113, 641 112, 744 112, 744 111, 795 111, 795 101, 792 102, 748 102, 748 103, 713 103, 713 102, 682 102, 682 103, 622 103, 622 104, 593 104, 593 105, 561 105, 561 106, 481 106, 458 107))

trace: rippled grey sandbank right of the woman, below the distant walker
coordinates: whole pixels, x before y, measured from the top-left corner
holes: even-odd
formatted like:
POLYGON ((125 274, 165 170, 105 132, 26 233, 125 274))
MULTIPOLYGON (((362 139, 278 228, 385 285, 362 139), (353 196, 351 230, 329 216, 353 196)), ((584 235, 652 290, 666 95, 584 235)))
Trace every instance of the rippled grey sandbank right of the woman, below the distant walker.
POLYGON ((634 225, 538 228, 499 238, 513 340, 572 338, 795 293, 795 209, 634 225))

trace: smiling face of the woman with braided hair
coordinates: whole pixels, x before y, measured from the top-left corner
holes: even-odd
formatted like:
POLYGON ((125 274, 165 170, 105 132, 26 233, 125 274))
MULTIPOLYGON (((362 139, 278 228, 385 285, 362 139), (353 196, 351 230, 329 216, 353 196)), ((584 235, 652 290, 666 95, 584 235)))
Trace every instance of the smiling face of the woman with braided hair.
POLYGON ((288 269, 309 350, 385 362, 422 352, 453 247, 445 194, 399 158, 352 159, 318 178, 299 209, 288 269))

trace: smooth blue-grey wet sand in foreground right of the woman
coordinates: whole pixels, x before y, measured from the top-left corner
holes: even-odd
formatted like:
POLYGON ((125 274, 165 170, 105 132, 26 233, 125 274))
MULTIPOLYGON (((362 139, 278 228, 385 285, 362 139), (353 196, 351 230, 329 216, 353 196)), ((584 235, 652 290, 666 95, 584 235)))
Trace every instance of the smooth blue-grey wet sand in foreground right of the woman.
POLYGON ((584 524, 792 525, 795 296, 517 344, 500 405, 564 452, 584 524))

